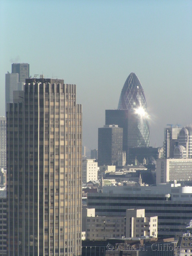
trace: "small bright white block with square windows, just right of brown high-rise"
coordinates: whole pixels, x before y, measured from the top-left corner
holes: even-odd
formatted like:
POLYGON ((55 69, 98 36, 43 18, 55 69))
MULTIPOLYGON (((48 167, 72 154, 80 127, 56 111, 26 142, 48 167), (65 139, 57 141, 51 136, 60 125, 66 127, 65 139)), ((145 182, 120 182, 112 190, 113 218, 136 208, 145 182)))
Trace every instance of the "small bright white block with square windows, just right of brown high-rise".
POLYGON ((98 180, 98 166, 95 159, 86 159, 82 162, 82 182, 86 184, 87 182, 98 180))

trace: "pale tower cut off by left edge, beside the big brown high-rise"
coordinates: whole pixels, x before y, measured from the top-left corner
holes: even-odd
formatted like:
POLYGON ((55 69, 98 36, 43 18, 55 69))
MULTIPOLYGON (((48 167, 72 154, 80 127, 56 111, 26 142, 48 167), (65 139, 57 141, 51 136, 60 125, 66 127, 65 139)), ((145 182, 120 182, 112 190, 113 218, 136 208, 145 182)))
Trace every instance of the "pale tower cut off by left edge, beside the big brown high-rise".
POLYGON ((6 167, 6 117, 0 116, 0 168, 6 167))

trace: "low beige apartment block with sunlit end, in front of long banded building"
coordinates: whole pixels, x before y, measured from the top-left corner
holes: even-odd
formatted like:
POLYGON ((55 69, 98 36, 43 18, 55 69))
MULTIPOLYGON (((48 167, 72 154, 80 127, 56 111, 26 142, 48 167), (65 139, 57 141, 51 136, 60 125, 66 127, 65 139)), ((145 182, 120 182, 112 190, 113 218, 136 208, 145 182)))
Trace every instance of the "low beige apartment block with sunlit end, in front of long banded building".
POLYGON ((105 217, 93 214, 90 216, 89 212, 85 225, 86 239, 93 241, 122 237, 157 237, 158 228, 157 217, 145 217, 144 209, 127 210, 126 218, 125 216, 105 217))

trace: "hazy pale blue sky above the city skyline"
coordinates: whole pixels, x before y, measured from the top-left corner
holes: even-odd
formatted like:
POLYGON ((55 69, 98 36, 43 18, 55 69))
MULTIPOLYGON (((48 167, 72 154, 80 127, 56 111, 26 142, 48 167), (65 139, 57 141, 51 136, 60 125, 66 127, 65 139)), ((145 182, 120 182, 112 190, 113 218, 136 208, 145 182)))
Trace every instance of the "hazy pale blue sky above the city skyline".
POLYGON ((134 72, 151 117, 150 146, 161 147, 167 124, 192 124, 192 1, 0 0, 0 116, 12 63, 77 85, 90 149, 134 72))

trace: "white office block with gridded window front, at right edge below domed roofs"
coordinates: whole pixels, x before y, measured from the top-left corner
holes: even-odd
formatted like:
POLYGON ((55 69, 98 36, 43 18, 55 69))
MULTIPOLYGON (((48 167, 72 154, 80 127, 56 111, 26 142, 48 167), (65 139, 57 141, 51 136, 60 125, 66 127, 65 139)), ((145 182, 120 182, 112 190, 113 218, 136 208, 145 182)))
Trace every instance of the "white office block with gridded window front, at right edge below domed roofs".
POLYGON ((156 183, 192 184, 192 158, 158 159, 156 183))

